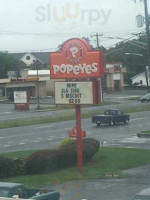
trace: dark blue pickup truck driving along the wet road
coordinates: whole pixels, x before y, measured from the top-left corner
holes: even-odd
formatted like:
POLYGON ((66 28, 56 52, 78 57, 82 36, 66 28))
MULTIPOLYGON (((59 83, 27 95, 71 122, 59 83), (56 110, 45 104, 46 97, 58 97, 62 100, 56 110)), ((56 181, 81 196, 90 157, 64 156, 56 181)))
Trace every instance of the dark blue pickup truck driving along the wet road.
POLYGON ((97 126, 101 124, 109 124, 110 126, 123 122, 129 123, 129 115, 123 114, 118 109, 105 110, 104 115, 94 115, 92 122, 96 123, 97 126))

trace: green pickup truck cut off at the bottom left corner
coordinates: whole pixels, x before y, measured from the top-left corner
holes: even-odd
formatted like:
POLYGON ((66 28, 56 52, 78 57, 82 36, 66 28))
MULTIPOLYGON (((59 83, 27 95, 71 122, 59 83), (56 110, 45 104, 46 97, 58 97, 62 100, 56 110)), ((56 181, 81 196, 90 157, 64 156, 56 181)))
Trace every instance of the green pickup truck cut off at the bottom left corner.
POLYGON ((28 189, 20 183, 0 182, 0 197, 18 197, 21 199, 59 200, 60 193, 55 190, 42 191, 28 189))

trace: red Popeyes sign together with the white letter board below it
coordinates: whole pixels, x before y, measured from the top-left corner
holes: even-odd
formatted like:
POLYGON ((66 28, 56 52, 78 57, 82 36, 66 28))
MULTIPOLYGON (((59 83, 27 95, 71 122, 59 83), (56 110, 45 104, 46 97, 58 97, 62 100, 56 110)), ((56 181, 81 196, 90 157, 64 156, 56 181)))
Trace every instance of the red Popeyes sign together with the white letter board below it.
POLYGON ((104 76, 103 52, 93 51, 85 40, 70 39, 61 51, 50 54, 50 76, 67 80, 55 83, 56 104, 98 104, 101 83, 97 78, 104 76))

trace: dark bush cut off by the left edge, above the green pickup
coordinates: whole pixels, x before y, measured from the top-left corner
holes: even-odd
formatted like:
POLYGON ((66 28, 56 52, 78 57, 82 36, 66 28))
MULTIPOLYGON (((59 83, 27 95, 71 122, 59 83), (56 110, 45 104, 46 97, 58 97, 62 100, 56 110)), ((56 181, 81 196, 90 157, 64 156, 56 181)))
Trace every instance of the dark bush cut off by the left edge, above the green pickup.
POLYGON ((16 168, 14 160, 0 157, 0 178, 14 176, 15 174, 16 168))

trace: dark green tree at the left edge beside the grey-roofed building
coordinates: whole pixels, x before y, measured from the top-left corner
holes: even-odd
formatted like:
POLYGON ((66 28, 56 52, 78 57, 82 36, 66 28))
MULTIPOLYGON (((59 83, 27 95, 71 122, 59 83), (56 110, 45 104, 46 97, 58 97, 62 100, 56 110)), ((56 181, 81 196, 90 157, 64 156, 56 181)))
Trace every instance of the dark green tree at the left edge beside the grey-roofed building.
POLYGON ((17 61, 8 53, 0 53, 0 78, 7 78, 7 72, 15 70, 17 61))

